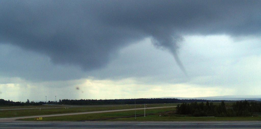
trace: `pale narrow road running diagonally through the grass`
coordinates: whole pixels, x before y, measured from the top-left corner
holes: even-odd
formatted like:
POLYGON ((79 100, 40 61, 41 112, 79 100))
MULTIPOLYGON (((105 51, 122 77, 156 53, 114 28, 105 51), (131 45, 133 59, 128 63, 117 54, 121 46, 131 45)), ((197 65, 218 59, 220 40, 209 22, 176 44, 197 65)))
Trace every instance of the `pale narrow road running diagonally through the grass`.
MULTIPOLYGON (((176 107, 176 106, 171 106, 176 107)), ((155 108, 169 108, 169 107, 152 107, 147 109, 155 108)), ((141 110, 144 108, 136 108, 136 110, 141 110)), ((0 122, 14 122, 17 119, 26 119, 26 118, 36 118, 36 117, 51 117, 51 116, 67 116, 67 115, 81 115, 81 114, 92 114, 92 113, 107 113, 107 112, 121 112, 121 111, 130 111, 135 109, 121 109, 121 110, 107 110, 107 111, 95 111, 95 112, 81 112, 81 113, 66 113, 66 114, 53 114, 53 115, 38 115, 38 116, 22 116, 22 117, 13 117, 13 118, 0 118, 0 122)))

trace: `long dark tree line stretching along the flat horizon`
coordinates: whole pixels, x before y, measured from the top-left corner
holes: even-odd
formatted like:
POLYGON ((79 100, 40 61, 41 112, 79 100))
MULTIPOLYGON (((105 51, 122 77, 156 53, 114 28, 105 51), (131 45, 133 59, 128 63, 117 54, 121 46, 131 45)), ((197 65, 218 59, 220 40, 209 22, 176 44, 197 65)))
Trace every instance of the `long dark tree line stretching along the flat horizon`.
MULTIPOLYGON (((48 101, 33 102, 27 99, 26 102, 13 102, 0 99, 0 105, 43 105, 43 104, 67 104, 67 105, 99 105, 99 104, 157 104, 157 103, 192 103, 192 102, 206 102, 205 99, 176 99, 176 98, 139 98, 139 99, 60 99, 58 102, 48 101)), ((220 100, 213 100, 212 102, 220 102, 220 100)), ((229 102, 229 101, 226 101, 229 102)))

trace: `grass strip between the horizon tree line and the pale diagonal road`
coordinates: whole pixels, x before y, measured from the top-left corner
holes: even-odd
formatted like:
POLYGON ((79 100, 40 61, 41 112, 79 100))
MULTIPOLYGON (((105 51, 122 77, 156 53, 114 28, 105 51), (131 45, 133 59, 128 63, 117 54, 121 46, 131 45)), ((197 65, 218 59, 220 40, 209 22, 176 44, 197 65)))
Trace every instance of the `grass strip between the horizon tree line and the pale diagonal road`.
MULTIPOLYGON (((177 104, 148 104, 147 107, 167 107, 175 106, 177 104)), ((51 115, 51 114, 64 114, 64 113, 79 113, 79 112, 92 112, 104 110, 117 110, 117 109, 133 109, 134 104, 122 105, 43 105, 43 106, 20 106, 20 107, 5 107, 5 110, 0 110, 0 118, 10 118, 19 116, 35 116, 35 115, 51 115), (65 109, 67 107, 68 109, 65 109), (7 109, 21 109, 21 110, 7 110, 7 109), (30 108, 30 109, 28 109, 30 108), (41 108, 41 110, 40 110, 41 108)), ((144 108, 144 104, 136 104, 136 108, 144 108)))

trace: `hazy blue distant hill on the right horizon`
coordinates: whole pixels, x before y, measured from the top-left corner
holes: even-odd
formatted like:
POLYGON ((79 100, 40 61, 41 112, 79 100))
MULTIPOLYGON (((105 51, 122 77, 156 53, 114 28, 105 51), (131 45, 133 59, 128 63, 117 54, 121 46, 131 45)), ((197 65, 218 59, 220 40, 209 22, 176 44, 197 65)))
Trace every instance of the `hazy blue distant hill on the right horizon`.
POLYGON ((261 101, 261 95, 226 95, 226 96, 209 96, 209 97, 161 97, 161 98, 177 98, 177 99, 207 99, 207 100, 257 100, 261 101))

